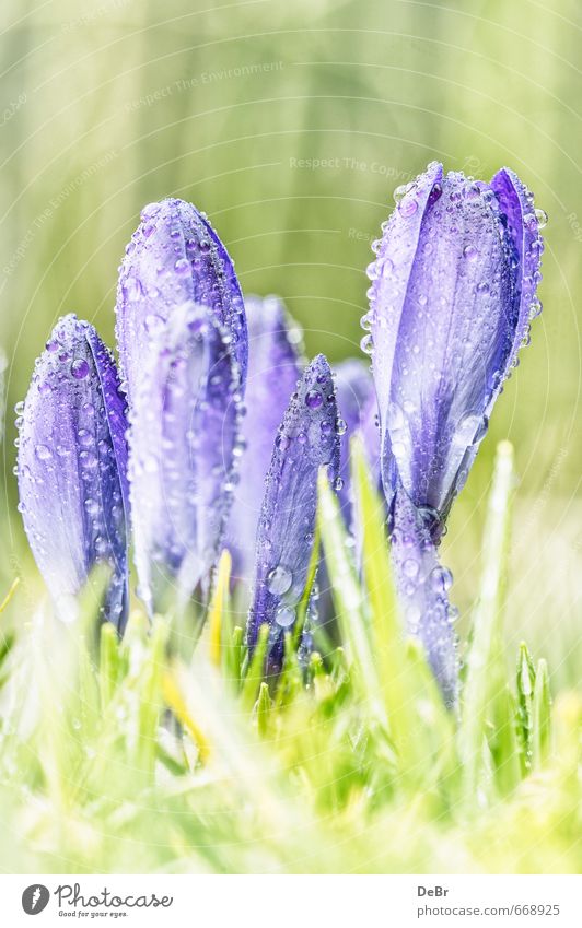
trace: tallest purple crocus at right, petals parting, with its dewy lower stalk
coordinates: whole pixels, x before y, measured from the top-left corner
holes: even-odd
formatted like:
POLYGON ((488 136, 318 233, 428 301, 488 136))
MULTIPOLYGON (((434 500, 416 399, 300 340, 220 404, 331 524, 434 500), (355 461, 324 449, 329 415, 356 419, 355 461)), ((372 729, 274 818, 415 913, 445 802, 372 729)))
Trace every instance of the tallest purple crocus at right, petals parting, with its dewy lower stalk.
POLYGON ((540 309, 542 214, 507 168, 485 184, 444 176, 433 163, 397 193, 369 268, 363 346, 372 353, 405 612, 453 702, 450 579, 432 548, 540 309))

